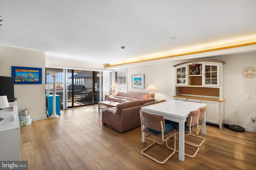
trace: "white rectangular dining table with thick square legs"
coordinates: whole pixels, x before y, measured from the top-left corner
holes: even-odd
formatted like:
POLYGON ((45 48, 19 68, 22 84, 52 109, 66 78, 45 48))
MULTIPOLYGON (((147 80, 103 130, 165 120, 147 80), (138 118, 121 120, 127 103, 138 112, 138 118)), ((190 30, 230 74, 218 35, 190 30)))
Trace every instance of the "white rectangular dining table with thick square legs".
MULTIPOLYGON (((185 122, 190 111, 203 107, 206 104, 196 102, 185 102, 179 100, 168 100, 158 104, 141 107, 142 110, 150 113, 164 115, 164 119, 179 123, 179 160, 185 160, 185 122)), ((205 120, 205 117, 204 117, 205 120)), ((202 134, 206 133, 206 123, 202 124, 202 134)), ((142 142, 146 143, 146 133, 142 133, 142 142)))

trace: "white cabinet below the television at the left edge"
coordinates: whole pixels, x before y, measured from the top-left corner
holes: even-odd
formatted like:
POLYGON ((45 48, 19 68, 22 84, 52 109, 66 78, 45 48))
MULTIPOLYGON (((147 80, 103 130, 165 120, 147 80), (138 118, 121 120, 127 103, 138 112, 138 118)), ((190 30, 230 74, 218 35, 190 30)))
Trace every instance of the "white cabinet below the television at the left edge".
POLYGON ((19 161, 20 160, 20 122, 17 103, 12 107, 0 110, 0 117, 4 118, 0 122, 0 160, 19 161), (15 115, 15 121, 14 121, 15 115))

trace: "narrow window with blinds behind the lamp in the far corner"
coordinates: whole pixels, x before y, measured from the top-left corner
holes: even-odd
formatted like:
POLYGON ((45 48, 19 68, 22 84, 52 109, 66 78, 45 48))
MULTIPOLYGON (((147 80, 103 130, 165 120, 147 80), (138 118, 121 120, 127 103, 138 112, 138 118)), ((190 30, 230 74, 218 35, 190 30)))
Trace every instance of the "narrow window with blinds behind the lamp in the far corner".
POLYGON ((118 86, 116 91, 127 92, 126 69, 114 70, 114 83, 118 86))

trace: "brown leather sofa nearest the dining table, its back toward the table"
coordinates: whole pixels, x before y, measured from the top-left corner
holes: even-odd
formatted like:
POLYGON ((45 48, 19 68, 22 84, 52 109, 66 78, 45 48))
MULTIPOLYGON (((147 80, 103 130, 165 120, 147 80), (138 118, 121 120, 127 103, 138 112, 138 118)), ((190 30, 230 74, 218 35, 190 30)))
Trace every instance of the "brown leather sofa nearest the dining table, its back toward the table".
POLYGON ((109 125, 120 133, 140 126, 140 108, 154 98, 122 102, 116 107, 102 110, 102 124, 109 125))

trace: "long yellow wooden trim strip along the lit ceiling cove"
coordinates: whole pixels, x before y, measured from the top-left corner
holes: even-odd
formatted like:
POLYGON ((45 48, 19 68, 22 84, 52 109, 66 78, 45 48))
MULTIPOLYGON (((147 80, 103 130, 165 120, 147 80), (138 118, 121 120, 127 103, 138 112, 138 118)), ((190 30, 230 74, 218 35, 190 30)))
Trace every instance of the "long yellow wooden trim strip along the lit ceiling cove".
POLYGON ((181 54, 176 54, 176 55, 169 55, 169 56, 165 56, 165 57, 156 57, 156 58, 151 58, 151 59, 142 59, 140 61, 131 61, 131 62, 120 63, 120 64, 109 64, 109 65, 105 65, 105 68, 106 67, 110 67, 110 66, 120 66, 120 65, 124 65, 124 64, 133 64, 133 63, 140 63, 140 62, 145 62, 145 61, 167 59, 167 58, 178 57, 178 56, 182 56, 182 55, 191 55, 191 54, 204 53, 204 52, 209 52, 209 51, 217 51, 217 50, 223 50, 223 49, 230 49, 230 48, 236 48, 236 47, 243 47, 243 46, 255 45, 255 44, 256 44, 256 42, 243 43, 243 44, 238 44, 238 45, 230 45, 230 46, 226 46, 226 47, 218 47, 218 48, 213 48, 213 49, 193 51, 193 52, 189 52, 189 53, 181 53, 181 54))

